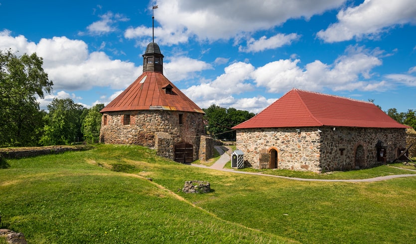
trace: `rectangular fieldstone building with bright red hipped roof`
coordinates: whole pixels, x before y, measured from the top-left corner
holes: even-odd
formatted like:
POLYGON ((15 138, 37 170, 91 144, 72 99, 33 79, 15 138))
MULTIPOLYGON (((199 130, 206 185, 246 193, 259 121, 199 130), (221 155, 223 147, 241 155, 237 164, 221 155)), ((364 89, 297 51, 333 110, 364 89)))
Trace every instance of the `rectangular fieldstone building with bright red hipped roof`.
POLYGON ((371 102, 299 89, 233 127, 247 166, 313 172, 391 162, 407 128, 371 102))

